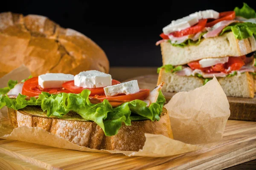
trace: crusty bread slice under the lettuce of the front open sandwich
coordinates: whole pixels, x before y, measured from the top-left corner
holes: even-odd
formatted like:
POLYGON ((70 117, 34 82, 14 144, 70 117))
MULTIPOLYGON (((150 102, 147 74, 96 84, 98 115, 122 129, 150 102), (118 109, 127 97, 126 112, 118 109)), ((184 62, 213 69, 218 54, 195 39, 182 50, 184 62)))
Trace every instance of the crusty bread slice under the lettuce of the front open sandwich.
POLYGON ((160 120, 132 121, 131 126, 122 125, 115 136, 105 136, 95 122, 85 121, 76 113, 68 113, 62 119, 47 117, 40 107, 27 106, 19 111, 8 109, 13 127, 41 127, 79 146, 92 149, 138 151, 145 142, 144 133, 162 134, 173 139, 169 115, 166 108, 160 120))

